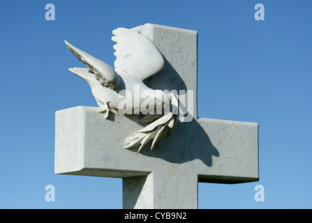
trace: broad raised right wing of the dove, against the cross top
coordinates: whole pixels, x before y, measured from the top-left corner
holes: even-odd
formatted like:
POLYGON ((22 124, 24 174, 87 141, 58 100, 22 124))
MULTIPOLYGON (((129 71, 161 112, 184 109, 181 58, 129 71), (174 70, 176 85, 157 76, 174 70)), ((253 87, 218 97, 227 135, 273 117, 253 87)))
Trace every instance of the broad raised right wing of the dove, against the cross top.
POLYGON ((112 31, 114 45, 115 70, 140 79, 155 75, 163 69, 164 60, 161 52, 149 38, 131 29, 118 28, 112 31))

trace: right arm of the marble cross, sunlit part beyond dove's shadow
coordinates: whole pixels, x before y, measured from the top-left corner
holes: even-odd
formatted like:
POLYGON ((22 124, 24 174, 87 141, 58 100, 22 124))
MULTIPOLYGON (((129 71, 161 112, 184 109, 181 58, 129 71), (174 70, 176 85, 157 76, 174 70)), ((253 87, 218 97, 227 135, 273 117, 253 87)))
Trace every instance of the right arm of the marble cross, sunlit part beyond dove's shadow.
POLYGON ((200 182, 258 181, 258 123, 212 118, 198 118, 198 123, 217 151, 211 167, 200 169, 200 182))

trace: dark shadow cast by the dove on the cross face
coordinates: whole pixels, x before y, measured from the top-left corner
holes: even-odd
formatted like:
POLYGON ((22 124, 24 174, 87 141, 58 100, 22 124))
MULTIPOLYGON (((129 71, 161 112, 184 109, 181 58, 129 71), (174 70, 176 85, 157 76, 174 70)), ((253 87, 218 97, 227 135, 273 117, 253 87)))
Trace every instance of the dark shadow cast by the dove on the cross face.
MULTIPOLYGON (((159 74, 144 81, 144 83, 151 87, 151 89, 168 91, 179 89, 187 91, 183 79, 181 79, 178 72, 174 70, 167 59, 165 59, 163 70, 159 74)), ((128 116, 128 118, 133 120, 133 116, 128 116)), ((211 144, 209 136, 195 118, 191 122, 181 123, 179 121, 172 134, 168 134, 165 137, 161 146, 155 146, 153 151, 150 151, 150 148, 151 142, 140 153, 179 164, 199 159, 208 167, 211 167, 212 156, 219 156, 216 147, 211 144)), ((133 148, 131 151, 136 153, 138 148, 133 148)))

